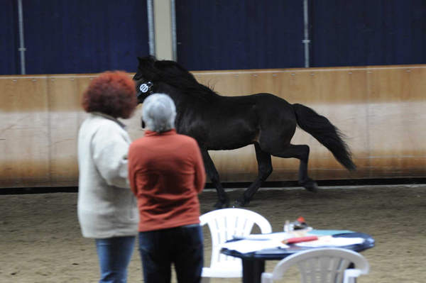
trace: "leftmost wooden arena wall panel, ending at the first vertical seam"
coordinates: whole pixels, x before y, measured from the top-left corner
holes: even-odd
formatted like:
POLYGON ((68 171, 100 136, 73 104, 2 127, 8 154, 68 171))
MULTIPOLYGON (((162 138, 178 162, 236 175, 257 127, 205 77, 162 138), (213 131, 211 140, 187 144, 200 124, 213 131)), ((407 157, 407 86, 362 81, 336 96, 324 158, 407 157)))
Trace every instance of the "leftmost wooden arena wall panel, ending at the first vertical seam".
POLYGON ((0 77, 0 184, 49 183, 46 77, 0 77))

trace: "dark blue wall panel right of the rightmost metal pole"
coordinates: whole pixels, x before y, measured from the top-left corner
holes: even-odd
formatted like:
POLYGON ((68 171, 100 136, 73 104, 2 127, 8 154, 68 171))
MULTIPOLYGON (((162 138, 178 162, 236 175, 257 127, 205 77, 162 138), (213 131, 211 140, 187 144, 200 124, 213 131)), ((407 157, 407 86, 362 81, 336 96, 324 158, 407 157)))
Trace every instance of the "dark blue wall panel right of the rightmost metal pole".
POLYGON ((426 63, 425 0, 310 3, 313 67, 426 63))

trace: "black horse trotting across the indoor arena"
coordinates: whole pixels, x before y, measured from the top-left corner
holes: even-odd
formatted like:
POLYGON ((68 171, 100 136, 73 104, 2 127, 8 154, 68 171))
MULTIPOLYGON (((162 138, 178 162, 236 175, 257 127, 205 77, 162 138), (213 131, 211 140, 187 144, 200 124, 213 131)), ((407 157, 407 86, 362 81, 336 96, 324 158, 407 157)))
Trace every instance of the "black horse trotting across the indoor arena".
POLYGON ((207 150, 233 150, 253 144, 258 162, 258 177, 245 190, 236 205, 249 204, 253 195, 272 172, 271 155, 300 160, 298 182, 316 192, 317 183, 307 175, 310 148, 290 143, 298 125, 328 148, 346 169, 355 170, 351 153, 342 134, 324 116, 302 104, 289 104, 273 94, 221 96, 197 82, 195 77, 170 60, 138 57, 136 81, 138 102, 160 92, 175 101, 178 133, 190 135, 200 145, 207 176, 217 189, 214 206, 229 206, 229 199, 207 150))

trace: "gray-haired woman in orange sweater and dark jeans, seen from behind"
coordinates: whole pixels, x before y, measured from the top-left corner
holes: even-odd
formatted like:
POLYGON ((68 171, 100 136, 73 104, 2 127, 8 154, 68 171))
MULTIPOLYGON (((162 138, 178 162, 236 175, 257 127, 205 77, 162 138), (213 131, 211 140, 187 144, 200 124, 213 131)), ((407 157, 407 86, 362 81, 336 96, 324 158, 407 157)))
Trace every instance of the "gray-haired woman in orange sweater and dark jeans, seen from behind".
POLYGON ((198 194, 205 172, 195 139, 175 131, 176 109, 166 94, 143 101, 143 138, 129 148, 129 181, 138 199, 139 251, 146 283, 200 282, 203 237, 198 194))

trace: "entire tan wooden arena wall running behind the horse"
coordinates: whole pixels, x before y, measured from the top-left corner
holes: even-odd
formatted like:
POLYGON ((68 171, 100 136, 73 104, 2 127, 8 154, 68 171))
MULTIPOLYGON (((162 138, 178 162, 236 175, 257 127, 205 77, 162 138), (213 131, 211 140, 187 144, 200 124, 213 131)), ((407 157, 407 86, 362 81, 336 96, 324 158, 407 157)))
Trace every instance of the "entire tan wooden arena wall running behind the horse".
MULTIPOLYGON (((297 128, 294 144, 310 145, 315 179, 425 177, 426 66, 193 72, 222 95, 269 92, 311 107, 346 135, 358 166, 347 172, 297 128)), ((0 76, 0 187, 77 185, 77 133, 87 113, 80 100, 97 74, 0 76)), ((123 121, 143 135, 141 106, 123 121)), ((256 177, 253 146, 212 151, 223 182, 256 177)), ((273 157, 269 181, 297 179, 298 160, 273 157)))

